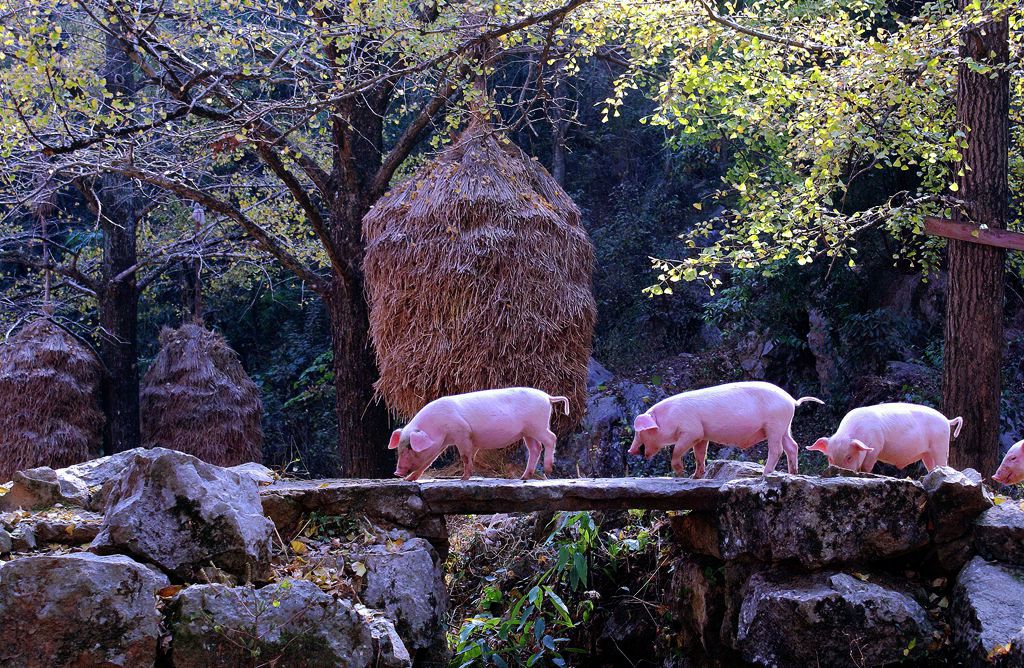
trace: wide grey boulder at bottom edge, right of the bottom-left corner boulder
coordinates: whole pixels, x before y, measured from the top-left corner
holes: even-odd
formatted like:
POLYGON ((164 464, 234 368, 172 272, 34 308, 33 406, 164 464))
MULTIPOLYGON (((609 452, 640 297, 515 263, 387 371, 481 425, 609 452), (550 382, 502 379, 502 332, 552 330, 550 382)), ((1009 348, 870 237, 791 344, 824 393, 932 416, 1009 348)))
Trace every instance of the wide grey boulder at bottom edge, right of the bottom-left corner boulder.
POLYGON ((305 580, 188 587, 175 596, 168 625, 175 668, 412 665, 390 622, 305 580))

